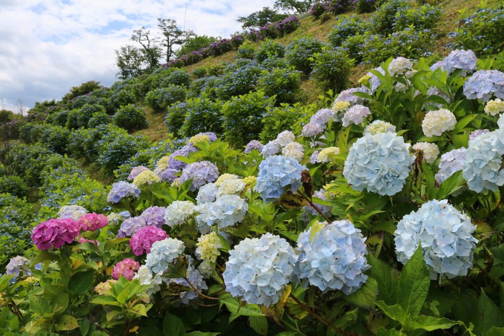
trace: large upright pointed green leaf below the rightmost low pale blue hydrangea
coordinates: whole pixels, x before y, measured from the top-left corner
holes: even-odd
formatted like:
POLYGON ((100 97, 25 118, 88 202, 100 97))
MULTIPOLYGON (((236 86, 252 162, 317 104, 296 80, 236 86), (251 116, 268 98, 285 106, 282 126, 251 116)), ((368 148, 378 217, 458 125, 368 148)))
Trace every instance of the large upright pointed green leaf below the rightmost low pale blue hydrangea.
POLYGON ((397 284, 397 303, 403 307, 406 314, 416 316, 420 313, 427 292, 430 276, 423 261, 420 244, 417 250, 404 266, 397 284))

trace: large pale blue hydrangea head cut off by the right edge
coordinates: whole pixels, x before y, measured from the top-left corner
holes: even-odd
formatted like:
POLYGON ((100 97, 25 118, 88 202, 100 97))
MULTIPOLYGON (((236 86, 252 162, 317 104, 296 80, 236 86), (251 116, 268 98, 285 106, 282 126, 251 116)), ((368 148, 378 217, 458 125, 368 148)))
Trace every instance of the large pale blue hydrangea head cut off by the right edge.
POLYGON ((502 155, 504 129, 482 134, 469 142, 462 168, 469 189, 476 192, 495 191, 504 185, 504 169, 500 169, 502 155))

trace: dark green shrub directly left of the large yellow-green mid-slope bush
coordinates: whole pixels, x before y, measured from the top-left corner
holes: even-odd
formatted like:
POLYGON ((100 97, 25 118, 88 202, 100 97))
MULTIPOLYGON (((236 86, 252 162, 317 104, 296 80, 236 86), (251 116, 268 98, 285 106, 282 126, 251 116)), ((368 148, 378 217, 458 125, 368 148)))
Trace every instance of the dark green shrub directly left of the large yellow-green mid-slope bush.
POLYGON ((179 135, 192 137, 200 132, 222 133, 221 103, 206 97, 187 100, 182 127, 179 135))

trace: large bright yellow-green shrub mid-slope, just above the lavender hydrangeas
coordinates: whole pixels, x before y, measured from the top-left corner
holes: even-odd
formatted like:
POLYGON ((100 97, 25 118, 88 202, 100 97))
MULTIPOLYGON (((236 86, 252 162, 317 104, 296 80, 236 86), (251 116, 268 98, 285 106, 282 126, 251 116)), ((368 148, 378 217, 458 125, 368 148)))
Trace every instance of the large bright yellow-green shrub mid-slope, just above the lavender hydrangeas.
POLYGON ((234 97, 225 102, 222 113, 226 141, 241 146, 257 139, 263 128, 262 119, 273 104, 274 99, 266 97, 262 91, 234 97))

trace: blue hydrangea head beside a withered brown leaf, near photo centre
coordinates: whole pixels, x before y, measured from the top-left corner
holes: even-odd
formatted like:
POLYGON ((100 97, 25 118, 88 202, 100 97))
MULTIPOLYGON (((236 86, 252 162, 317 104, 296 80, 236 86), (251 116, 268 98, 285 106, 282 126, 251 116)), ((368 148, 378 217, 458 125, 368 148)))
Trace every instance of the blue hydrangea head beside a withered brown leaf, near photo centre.
POLYGON ((270 156, 259 165, 255 189, 261 193, 265 203, 279 198, 287 190, 295 193, 301 186, 301 172, 305 169, 295 159, 270 156))

